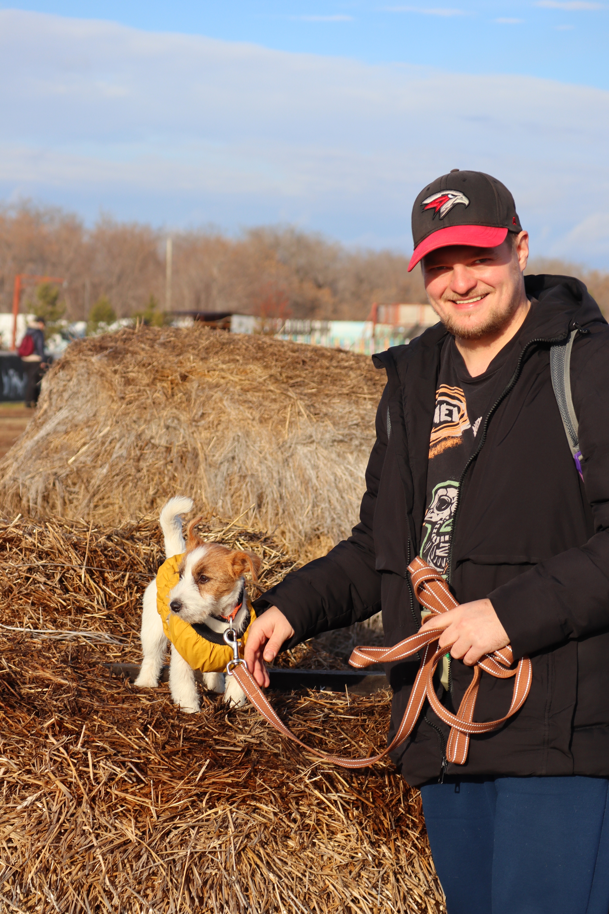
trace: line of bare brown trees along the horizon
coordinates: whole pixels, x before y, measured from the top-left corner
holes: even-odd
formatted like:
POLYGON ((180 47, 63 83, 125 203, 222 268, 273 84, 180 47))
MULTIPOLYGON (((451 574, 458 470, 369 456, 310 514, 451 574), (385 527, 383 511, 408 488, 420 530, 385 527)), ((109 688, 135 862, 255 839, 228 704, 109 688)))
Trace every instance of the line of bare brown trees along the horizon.
MULTIPOLYGON (((104 320, 102 314, 160 319, 166 239, 161 229, 109 216, 87 228, 55 207, 0 207, 0 311, 11 309, 16 273, 30 273, 66 281, 55 308, 70 320, 104 320)), ((298 228, 249 228, 236 238, 199 228, 173 232, 172 242, 172 311, 364 320, 373 302, 426 301, 421 272, 408 273, 403 254, 352 250, 298 228)), ((540 259, 529 271, 578 276, 609 313, 609 273, 540 259)), ((32 286, 22 310, 36 304, 32 286)))

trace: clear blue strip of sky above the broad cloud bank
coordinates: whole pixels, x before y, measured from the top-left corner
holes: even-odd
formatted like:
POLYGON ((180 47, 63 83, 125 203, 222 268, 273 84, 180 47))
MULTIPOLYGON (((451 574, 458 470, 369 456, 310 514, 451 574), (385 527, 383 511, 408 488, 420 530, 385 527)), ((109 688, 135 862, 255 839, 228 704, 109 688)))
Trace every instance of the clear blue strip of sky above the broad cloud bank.
POLYGON ((609 4, 593 0, 49 0, 0 8, 107 19, 145 31, 205 35, 368 63, 421 64, 458 73, 526 73, 609 89, 609 4))

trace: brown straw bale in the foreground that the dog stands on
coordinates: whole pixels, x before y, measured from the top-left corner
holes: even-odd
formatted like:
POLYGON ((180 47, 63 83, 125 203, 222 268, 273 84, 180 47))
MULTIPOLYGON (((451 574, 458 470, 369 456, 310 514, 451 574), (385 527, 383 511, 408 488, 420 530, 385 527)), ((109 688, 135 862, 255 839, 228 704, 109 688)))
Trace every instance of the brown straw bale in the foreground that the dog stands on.
MULTIPOLYGON (((290 567, 256 531, 204 534, 255 549, 267 584, 290 567)), ((152 519, 0 522, 13 626, 0 629, 0 907, 443 912, 420 795, 390 762, 333 769, 251 707, 226 712, 207 694, 186 717, 166 685, 110 678, 101 663, 137 659, 139 601, 162 558, 152 519)), ((378 749, 389 715, 385 692, 273 701, 301 739, 341 753, 378 749)))

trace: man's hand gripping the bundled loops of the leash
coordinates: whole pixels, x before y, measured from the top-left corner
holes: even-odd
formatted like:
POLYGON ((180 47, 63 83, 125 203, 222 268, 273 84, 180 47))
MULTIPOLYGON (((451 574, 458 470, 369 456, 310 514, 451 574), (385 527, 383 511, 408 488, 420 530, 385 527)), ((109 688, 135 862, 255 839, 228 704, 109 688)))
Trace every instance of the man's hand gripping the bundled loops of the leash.
POLYGON ((497 613, 490 600, 472 600, 462 603, 456 610, 443 612, 439 616, 429 616, 422 628, 444 629, 440 647, 453 646, 450 654, 456 660, 463 660, 467 666, 478 663, 484 654, 492 654, 502 647, 507 647, 509 637, 499 622, 497 613))

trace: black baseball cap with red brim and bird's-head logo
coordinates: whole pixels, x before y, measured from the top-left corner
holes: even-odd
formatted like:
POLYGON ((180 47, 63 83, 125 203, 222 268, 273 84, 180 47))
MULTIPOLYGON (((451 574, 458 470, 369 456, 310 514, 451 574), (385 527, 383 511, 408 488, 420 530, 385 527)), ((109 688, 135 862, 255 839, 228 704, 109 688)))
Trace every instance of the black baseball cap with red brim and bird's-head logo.
POLYGON ((459 171, 436 178, 415 199, 410 272, 431 250, 452 244, 495 248, 509 231, 520 232, 514 197, 496 177, 459 171))

